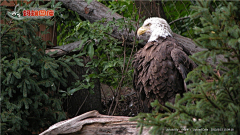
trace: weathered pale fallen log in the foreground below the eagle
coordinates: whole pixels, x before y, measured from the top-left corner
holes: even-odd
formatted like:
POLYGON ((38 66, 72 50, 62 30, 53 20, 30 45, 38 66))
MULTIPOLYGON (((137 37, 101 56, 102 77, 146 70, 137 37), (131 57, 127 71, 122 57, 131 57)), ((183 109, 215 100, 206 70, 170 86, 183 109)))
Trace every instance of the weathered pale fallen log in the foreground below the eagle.
MULTIPOLYGON (((108 116, 90 111, 69 120, 58 122, 40 135, 74 134, 74 135, 136 135, 139 133, 137 122, 130 117, 108 116)), ((149 135, 150 128, 144 128, 143 135, 149 135)))

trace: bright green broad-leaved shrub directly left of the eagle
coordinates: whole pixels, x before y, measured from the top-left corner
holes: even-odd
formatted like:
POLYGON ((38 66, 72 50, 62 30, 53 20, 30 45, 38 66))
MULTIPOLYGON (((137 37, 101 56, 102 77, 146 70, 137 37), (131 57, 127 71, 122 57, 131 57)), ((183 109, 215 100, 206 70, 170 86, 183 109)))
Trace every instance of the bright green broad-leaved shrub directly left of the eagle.
MULTIPOLYGON (((91 80, 94 78, 99 78, 101 83, 112 86, 116 93, 118 92, 117 89, 122 86, 131 86, 133 73, 131 59, 135 52, 134 45, 138 41, 134 39, 134 45, 128 46, 125 42, 109 35, 109 33, 113 32, 113 27, 118 27, 118 30, 129 29, 129 31, 135 31, 136 23, 133 23, 132 20, 136 20, 138 17, 136 8, 131 1, 102 2, 112 9, 109 12, 117 12, 124 15, 125 18, 111 22, 106 22, 106 20, 102 19, 95 23, 90 23, 88 20, 80 18, 75 12, 65 11, 64 13, 68 14, 68 18, 64 22, 57 21, 59 24, 58 38, 61 39, 58 40, 60 44, 82 40, 83 42, 79 48, 75 49, 79 50, 83 46, 79 55, 98 58, 92 59, 87 64, 87 67, 89 67, 89 71, 97 67, 99 72, 92 70, 91 74, 86 73, 88 75, 84 76, 85 79, 83 81, 78 80, 75 86, 68 89, 69 94, 81 89, 91 90, 94 87, 94 83, 91 80), (65 26, 64 29, 61 26, 65 26)), ((124 38, 126 39, 127 37, 123 37, 123 40, 124 38)))

